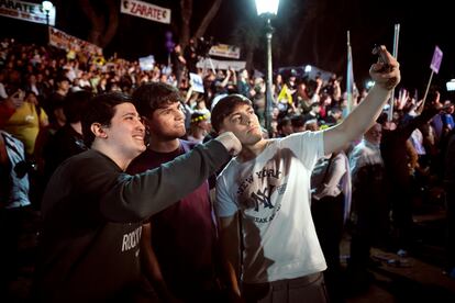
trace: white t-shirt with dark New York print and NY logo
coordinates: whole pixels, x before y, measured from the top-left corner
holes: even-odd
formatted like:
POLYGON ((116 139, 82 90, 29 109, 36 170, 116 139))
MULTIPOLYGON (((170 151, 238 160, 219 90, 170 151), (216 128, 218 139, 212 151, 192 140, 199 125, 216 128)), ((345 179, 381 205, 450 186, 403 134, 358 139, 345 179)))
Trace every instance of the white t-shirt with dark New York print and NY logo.
POLYGON ((325 270, 310 211, 311 170, 323 150, 322 132, 292 134, 270 139, 255 159, 232 159, 219 176, 218 215, 241 211, 244 282, 325 270))

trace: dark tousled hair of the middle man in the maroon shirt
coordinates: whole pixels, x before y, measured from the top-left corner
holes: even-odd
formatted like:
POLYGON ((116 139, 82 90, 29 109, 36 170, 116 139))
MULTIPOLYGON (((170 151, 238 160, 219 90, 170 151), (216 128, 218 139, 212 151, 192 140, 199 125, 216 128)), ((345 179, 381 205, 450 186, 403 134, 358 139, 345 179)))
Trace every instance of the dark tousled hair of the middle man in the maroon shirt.
POLYGON ((147 82, 141 85, 133 92, 134 105, 140 115, 152 117, 157 109, 182 102, 177 88, 163 82, 147 82))

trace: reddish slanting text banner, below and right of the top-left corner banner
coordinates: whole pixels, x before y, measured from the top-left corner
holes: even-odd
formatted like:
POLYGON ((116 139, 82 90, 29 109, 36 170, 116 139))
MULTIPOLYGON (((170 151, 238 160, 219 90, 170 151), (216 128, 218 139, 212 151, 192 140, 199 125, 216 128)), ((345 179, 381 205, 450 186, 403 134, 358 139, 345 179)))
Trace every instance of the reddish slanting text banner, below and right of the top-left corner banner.
POLYGON ((81 52, 90 55, 102 55, 102 48, 87 41, 68 35, 49 26, 49 44, 67 52, 81 52))

